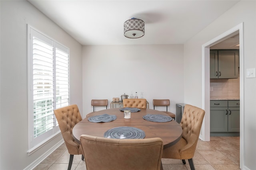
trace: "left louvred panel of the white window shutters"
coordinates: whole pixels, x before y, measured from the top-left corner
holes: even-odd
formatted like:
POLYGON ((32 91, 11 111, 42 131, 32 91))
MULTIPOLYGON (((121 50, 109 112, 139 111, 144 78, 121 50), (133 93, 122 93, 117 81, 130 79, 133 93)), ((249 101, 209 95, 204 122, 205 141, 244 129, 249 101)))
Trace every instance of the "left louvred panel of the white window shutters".
POLYGON ((54 127, 54 47, 33 36, 34 138, 54 127))

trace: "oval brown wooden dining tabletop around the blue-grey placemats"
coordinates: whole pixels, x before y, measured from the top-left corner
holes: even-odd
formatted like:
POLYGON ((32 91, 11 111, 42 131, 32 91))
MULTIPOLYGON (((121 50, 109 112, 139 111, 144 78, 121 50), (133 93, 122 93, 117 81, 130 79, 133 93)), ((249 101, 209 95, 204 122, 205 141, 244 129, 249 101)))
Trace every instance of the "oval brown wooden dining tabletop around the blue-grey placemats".
POLYGON ((97 137, 104 137, 104 133, 114 127, 129 126, 136 127, 145 132, 145 138, 160 137, 163 140, 164 148, 170 147, 177 143, 182 137, 182 127, 172 119, 169 122, 152 122, 143 119, 143 115, 167 115, 162 111, 153 109, 141 109, 141 111, 131 113, 131 119, 124 119, 124 112, 120 108, 105 109, 95 111, 91 116, 95 115, 116 115, 116 120, 110 122, 92 123, 88 121, 88 117, 77 123, 73 130, 74 139, 80 143, 80 136, 83 134, 97 137))

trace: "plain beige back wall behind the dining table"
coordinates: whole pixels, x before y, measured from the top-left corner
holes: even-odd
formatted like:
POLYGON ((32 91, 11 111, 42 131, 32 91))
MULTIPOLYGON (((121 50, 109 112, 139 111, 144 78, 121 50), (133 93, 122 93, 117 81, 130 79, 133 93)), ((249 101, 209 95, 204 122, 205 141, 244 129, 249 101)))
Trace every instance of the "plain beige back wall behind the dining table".
POLYGON ((94 45, 82 53, 84 115, 93 111, 92 99, 111 102, 131 92, 144 92, 150 109, 153 99, 170 99, 176 113, 184 101, 183 45, 94 45))

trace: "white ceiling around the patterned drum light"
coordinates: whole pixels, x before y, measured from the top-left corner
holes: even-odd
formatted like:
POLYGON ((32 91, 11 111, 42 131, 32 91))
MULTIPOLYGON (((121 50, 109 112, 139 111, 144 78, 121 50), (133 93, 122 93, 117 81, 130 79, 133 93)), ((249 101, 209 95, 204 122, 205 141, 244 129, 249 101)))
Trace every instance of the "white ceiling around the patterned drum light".
POLYGON ((183 44, 239 0, 28 0, 82 45, 183 44), (124 21, 145 35, 124 37, 124 21))

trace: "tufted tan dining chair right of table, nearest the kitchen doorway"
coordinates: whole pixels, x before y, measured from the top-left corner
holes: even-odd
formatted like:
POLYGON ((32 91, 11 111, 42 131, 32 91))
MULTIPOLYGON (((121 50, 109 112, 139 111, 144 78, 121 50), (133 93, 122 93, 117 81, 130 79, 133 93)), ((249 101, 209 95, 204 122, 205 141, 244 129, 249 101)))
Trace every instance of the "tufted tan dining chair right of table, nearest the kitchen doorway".
POLYGON ((199 138, 205 111, 195 106, 185 105, 180 122, 182 138, 178 143, 163 150, 162 158, 180 159, 186 164, 188 159, 190 169, 195 170, 193 156, 199 138))

